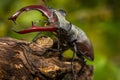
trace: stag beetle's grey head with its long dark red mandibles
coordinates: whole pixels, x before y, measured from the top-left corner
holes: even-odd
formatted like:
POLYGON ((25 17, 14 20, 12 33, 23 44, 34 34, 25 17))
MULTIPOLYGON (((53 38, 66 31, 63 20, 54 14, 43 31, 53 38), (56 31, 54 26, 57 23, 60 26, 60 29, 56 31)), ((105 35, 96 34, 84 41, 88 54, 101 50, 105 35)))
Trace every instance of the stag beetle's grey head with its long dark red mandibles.
POLYGON ((48 23, 47 26, 35 26, 34 23, 32 23, 32 27, 26 30, 22 31, 15 31, 20 34, 30 33, 30 32, 38 32, 38 31, 54 31, 58 28, 61 28, 63 30, 67 30, 67 26, 69 22, 65 19, 66 13, 64 10, 56 10, 50 7, 41 6, 41 5, 31 5, 26 6, 18 10, 16 13, 14 13, 11 17, 9 17, 9 20, 12 20, 14 23, 16 23, 16 19, 18 16, 24 12, 24 11, 30 11, 30 10, 38 10, 40 11, 43 16, 47 17, 48 23))

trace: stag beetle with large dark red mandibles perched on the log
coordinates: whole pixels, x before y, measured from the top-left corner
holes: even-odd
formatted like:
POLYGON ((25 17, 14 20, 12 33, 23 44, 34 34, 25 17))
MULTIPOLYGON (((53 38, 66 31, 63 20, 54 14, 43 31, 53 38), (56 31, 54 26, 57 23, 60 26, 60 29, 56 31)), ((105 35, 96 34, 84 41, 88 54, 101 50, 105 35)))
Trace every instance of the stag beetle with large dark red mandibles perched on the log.
POLYGON ((94 60, 93 46, 90 40, 83 30, 65 19, 66 13, 63 10, 56 10, 41 5, 31 5, 17 11, 9 18, 9 20, 15 22, 17 17, 22 12, 29 10, 38 10, 42 12, 42 14, 48 19, 47 26, 35 26, 35 24, 32 23, 31 28, 22 31, 16 31, 17 33, 25 34, 39 31, 56 31, 60 36, 58 37, 59 40, 64 40, 67 42, 67 45, 74 51, 74 53, 76 53, 77 57, 82 59, 84 59, 83 57, 86 57, 91 61, 94 60))

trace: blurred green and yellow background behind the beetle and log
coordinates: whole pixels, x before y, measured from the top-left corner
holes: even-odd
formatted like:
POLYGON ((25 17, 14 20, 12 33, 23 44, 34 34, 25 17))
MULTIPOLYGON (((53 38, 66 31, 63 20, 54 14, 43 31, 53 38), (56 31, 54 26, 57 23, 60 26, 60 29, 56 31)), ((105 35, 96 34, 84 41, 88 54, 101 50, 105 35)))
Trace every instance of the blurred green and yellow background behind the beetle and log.
MULTIPOLYGON (((95 60, 90 62, 95 68, 94 80, 120 80, 120 0, 0 0, 0 37, 31 40, 36 33, 14 33, 14 24, 8 17, 33 4, 65 10, 67 20, 86 32, 94 46, 95 60)), ((36 20, 37 23, 44 19, 37 12, 27 15, 20 17, 20 28, 31 25, 28 21, 36 20)))

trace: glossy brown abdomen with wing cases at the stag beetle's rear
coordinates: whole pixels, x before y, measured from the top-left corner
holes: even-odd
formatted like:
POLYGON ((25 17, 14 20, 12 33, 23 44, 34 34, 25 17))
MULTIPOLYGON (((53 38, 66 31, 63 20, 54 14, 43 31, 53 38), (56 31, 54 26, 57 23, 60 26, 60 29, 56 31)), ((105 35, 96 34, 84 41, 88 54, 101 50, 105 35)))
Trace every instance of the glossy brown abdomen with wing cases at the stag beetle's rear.
POLYGON ((78 51, 77 55, 82 54, 89 60, 94 60, 93 46, 86 34, 81 29, 79 29, 79 34, 77 36, 76 48, 78 51))

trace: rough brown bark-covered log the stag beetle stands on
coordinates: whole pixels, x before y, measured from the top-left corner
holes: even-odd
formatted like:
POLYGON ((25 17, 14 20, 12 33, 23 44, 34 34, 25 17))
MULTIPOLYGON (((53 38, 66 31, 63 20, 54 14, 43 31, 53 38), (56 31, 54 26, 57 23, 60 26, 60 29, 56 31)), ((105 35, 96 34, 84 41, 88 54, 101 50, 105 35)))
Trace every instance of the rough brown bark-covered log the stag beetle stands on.
POLYGON ((70 59, 59 58, 50 50, 54 41, 41 37, 36 42, 0 38, 0 80, 92 80, 93 66, 78 59, 74 61, 74 75, 70 59))

